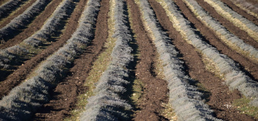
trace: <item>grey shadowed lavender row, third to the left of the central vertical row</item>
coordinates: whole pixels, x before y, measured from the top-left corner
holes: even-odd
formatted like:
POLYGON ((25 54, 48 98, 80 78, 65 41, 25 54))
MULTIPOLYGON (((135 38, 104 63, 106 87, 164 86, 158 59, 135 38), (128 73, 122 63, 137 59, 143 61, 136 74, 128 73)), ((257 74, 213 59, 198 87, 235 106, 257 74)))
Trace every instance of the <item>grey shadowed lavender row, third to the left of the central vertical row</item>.
POLYGON ((0 29, 0 39, 8 41, 6 38, 14 36, 19 29, 31 23, 34 17, 39 15, 50 1, 51 0, 37 0, 33 3, 21 15, 17 16, 9 24, 0 29))

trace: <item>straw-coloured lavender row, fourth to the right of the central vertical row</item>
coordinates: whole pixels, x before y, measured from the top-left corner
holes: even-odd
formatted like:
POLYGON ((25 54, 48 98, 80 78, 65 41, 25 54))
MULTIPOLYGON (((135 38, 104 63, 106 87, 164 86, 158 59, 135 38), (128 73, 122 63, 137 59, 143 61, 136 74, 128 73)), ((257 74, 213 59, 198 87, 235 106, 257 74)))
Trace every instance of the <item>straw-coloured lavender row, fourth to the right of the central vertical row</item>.
POLYGON ((204 0, 211 7, 213 7, 217 13, 219 13, 224 18, 231 21, 235 26, 246 31, 248 35, 254 38, 258 42, 258 26, 256 26, 251 21, 247 20, 243 16, 239 15, 237 12, 233 11, 227 5, 222 3, 220 0, 204 0))

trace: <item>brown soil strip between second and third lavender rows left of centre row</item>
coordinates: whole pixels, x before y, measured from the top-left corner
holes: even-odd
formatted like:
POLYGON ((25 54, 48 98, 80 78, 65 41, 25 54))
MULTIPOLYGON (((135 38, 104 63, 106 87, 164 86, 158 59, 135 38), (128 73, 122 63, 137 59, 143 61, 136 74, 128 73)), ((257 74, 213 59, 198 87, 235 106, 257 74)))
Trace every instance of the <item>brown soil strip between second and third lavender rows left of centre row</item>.
POLYGON ((56 10, 58 5, 62 2, 62 0, 54 0, 52 1, 45 10, 40 13, 33 21, 30 23, 27 28, 25 28, 21 33, 16 35, 14 38, 9 39, 5 44, 0 45, 0 49, 8 48, 15 46, 21 43, 24 39, 31 36, 37 30, 44 25, 44 22, 52 15, 52 13, 56 10))

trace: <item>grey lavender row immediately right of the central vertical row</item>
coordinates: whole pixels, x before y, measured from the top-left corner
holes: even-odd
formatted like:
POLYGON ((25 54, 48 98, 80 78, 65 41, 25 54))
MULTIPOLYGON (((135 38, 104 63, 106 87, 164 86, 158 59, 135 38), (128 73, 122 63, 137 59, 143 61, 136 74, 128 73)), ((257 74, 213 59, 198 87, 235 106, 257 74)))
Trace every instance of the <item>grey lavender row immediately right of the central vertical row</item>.
POLYGON ((151 6, 146 0, 139 0, 146 26, 154 36, 154 44, 162 60, 165 80, 168 82, 169 100, 175 109, 179 120, 219 120, 213 116, 213 111, 204 104, 202 94, 189 83, 194 82, 183 66, 183 61, 178 57, 171 39, 162 31, 155 18, 151 6))

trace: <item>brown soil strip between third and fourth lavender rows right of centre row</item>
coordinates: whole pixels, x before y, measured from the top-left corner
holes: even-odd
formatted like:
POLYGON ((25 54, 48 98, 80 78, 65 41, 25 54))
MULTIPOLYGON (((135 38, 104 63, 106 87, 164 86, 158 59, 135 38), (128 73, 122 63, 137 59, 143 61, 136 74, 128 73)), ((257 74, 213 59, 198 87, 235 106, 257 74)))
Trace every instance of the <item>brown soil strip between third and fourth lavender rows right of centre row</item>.
POLYGON ((221 15, 219 15, 209 4, 204 2, 203 0, 196 0, 196 2, 207 12, 209 12, 210 16, 218 20, 222 25, 227 28, 230 32, 241 38, 244 43, 251 45, 255 49, 258 49, 257 42, 254 41, 252 37, 250 37, 247 32, 239 29, 234 24, 232 24, 227 19, 223 18, 221 15))

